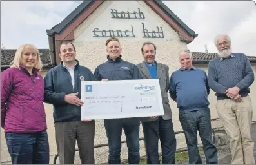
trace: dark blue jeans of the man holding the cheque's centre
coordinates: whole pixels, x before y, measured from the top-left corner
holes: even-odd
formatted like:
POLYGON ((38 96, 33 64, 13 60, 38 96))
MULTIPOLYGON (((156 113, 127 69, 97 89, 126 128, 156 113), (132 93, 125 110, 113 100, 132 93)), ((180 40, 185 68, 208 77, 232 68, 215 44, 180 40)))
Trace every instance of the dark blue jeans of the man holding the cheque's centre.
POLYGON ((105 119, 104 126, 108 137, 108 164, 121 164, 122 128, 126 135, 128 163, 139 164, 139 118, 105 119))

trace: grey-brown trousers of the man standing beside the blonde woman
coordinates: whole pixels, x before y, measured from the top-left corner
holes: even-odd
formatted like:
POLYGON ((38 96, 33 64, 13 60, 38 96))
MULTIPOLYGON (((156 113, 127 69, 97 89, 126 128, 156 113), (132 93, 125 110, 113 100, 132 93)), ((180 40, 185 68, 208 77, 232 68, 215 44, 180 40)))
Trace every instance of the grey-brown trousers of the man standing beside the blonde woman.
POLYGON ((57 122, 55 124, 60 164, 74 164, 75 140, 82 164, 94 164, 95 121, 57 122))

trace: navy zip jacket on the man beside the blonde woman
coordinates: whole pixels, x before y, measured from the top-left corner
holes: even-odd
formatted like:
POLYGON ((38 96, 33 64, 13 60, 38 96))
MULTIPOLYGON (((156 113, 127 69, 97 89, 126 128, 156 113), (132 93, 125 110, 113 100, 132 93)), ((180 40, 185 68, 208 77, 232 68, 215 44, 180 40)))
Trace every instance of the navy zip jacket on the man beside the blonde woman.
POLYGON ((95 81, 93 73, 86 67, 80 66, 79 61, 75 66, 74 90, 71 83, 70 73, 63 67, 63 62, 58 66, 50 69, 44 77, 44 102, 53 104, 54 106, 54 122, 80 121, 80 106, 68 104, 64 101, 65 95, 77 93, 80 98, 80 76, 84 77, 84 81, 95 81))

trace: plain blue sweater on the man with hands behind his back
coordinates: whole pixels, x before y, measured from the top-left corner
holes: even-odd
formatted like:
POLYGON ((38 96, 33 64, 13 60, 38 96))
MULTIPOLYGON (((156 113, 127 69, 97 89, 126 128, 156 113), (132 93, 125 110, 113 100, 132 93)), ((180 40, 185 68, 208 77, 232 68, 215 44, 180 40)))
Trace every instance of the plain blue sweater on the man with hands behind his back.
POLYGON ((208 109, 210 88, 204 70, 181 68, 170 77, 170 97, 177 100, 180 112, 208 109))

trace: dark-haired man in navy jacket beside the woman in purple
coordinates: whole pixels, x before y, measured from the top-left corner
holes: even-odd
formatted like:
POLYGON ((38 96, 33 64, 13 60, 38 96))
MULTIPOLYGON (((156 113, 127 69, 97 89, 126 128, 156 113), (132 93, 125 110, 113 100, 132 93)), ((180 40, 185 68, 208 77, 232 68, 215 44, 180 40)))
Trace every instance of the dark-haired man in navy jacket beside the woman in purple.
POLYGON ((54 106, 54 123, 60 164, 74 164, 75 140, 82 164, 94 164, 94 121, 81 121, 81 79, 94 81, 93 73, 75 60, 75 46, 64 41, 61 63, 44 77, 44 102, 54 106))

